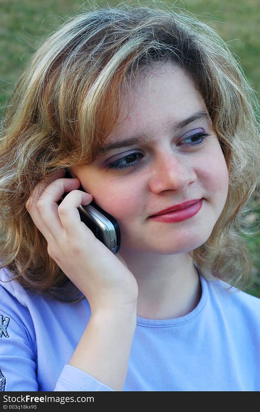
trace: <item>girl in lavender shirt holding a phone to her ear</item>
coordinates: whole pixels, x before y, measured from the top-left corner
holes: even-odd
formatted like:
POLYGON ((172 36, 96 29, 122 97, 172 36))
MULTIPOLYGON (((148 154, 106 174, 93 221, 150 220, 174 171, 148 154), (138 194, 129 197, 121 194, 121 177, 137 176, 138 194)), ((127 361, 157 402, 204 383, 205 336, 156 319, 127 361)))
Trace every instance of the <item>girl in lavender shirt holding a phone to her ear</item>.
POLYGON ((178 10, 93 9, 39 47, 0 145, 2 391, 260 390, 239 234, 255 105, 225 42, 178 10), (91 201, 116 254, 81 221, 91 201))

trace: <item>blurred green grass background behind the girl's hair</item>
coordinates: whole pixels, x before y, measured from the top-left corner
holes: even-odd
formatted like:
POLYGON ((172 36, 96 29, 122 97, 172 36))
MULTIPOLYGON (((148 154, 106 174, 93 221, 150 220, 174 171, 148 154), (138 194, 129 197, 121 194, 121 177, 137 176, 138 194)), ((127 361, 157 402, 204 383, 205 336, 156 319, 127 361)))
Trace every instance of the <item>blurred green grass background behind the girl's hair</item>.
MULTIPOLYGON (((22 74, 30 56, 42 37, 54 31, 63 19, 93 2, 80 0, 1 0, 0 2, 0 117, 4 113, 15 82, 22 74)), ((96 0, 97 5, 107 2, 96 0)), ((118 5, 109 1, 109 6, 118 5)), ((145 3, 145 2, 144 2, 145 3)), ((165 2, 171 6, 174 2, 165 2)), ((129 1, 128 4, 135 5, 129 1)), ((186 0, 176 1, 214 28, 232 47, 251 87, 260 92, 260 24, 259 0, 186 0)), ((260 297, 260 196, 255 192, 252 200, 254 212, 245 219, 248 227, 258 227, 255 236, 243 235, 252 258, 252 286, 245 291, 260 297)))

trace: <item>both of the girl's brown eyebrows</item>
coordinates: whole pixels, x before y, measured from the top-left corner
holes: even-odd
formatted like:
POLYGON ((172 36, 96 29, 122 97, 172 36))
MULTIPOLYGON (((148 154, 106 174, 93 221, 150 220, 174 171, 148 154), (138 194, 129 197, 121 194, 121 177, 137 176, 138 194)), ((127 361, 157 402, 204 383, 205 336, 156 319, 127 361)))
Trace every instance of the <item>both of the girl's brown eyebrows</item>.
MULTIPOLYGON (((181 120, 180 122, 176 122, 171 126, 171 132, 174 133, 178 129, 181 129, 184 126, 187 126, 187 124, 190 124, 192 122, 195 122, 195 120, 202 120, 206 119, 209 123, 211 122, 209 113, 206 110, 199 110, 197 112, 192 113, 189 117, 186 119, 181 120)), ((103 153, 109 153, 114 149, 119 149, 121 147, 127 147, 131 146, 137 143, 145 143, 146 140, 148 139, 148 136, 146 133, 137 133, 135 136, 132 136, 128 139, 125 140, 117 140, 114 143, 111 143, 109 145, 103 145, 99 150, 97 150, 97 155, 101 155, 103 153)))

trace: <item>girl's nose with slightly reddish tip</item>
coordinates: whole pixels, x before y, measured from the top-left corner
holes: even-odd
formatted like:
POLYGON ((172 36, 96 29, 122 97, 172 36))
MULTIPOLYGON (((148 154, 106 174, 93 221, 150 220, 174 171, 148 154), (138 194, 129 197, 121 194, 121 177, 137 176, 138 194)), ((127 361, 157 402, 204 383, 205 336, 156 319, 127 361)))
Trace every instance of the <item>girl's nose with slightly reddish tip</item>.
POLYGON ((160 193, 164 190, 185 192, 186 187, 197 180, 194 164, 185 154, 160 153, 152 164, 149 179, 150 190, 160 193))

